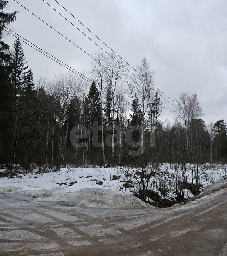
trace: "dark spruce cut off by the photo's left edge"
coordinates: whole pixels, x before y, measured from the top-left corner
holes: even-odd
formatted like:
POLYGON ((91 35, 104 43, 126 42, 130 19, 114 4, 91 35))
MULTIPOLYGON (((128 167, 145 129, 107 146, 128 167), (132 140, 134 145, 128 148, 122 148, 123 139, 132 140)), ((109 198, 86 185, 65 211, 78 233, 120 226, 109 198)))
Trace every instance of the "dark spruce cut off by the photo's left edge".
POLYGON ((9 45, 3 41, 5 26, 16 19, 16 11, 5 13, 3 10, 8 1, 0 0, 0 141, 4 152, 0 155, 3 162, 7 161, 9 153, 9 139, 12 135, 12 100, 13 90, 10 84, 10 52, 9 45))

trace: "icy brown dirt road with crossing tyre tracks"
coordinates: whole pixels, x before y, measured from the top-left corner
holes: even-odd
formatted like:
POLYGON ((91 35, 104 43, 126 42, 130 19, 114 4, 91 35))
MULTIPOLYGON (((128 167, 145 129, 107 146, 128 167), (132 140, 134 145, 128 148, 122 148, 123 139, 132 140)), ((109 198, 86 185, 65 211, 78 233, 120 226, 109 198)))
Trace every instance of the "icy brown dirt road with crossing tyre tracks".
POLYGON ((227 255, 227 189, 168 209, 85 209, 0 195, 0 255, 227 255))

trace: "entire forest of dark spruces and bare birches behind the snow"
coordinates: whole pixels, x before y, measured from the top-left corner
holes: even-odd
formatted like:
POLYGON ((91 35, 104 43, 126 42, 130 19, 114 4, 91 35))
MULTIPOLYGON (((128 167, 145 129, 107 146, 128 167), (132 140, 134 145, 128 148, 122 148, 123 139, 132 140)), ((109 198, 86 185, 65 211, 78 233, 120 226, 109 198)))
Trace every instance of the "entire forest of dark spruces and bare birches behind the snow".
POLYGON ((59 74, 33 80, 21 42, 4 42, 5 26, 16 19, 0 1, 0 160, 40 171, 75 166, 144 165, 157 162, 226 162, 223 119, 205 125, 196 94, 175 102, 174 125, 159 120, 161 95, 146 59, 130 75, 115 54, 94 55, 89 81, 59 74), (121 77, 124 77, 122 80, 121 77))

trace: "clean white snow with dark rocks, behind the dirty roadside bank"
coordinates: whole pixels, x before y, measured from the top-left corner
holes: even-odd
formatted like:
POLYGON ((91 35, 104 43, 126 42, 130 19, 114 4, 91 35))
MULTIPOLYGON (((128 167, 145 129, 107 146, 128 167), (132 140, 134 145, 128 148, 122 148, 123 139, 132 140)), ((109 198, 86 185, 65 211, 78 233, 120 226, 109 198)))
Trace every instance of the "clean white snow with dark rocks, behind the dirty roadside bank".
MULTIPOLYGON (((64 187, 65 191, 77 191, 83 188, 102 188, 119 190, 122 184, 119 180, 112 181, 112 176, 122 176, 117 168, 61 168, 58 172, 48 172, 38 174, 36 172, 18 174, 14 178, 2 177, 0 187, 9 186, 22 187, 24 190, 56 189, 64 187), (102 181, 102 185, 97 185, 95 181, 102 181), (105 179, 105 180, 104 180, 105 179), (72 186, 67 186, 70 182, 77 181, 72 186), (66 182, 67 185, 57 186, 57 183, 66 182)), ((121 180, 121 179, 120 179, 121 180)))

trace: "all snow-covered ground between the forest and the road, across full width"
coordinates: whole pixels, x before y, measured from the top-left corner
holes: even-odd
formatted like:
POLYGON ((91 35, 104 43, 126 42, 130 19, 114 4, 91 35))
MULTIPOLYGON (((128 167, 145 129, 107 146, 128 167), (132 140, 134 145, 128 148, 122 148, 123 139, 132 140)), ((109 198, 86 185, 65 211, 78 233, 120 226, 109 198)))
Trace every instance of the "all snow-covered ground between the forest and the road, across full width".
MULTIPOLYGON (((227 178, 227 165, 200 166, 199 177, 202 190, 227 178)), ((158 174, 151 177, 151 189, 163 199, 175 200, 179 189, 178 183, 192 182, 192 171, 174 169, 171 164, 159 165, 158 174), (165 195, 161 192, 167 191, 165 195)), ((4 172, 4 170, 1 170, 4 172)), ((134 170, 135 172, 135 170, 134 170)), ((132 194, 138 187, 136 179, 140 176, 134 174, 130 168, 61 168, 58 172, 21 173, 16 176, 0 178, 0 192, 16 193, 34 197, 36 201, 70 202, 75 206, 118 208, 128 206, 146 207, 147 204, 132 194), (130 187, 127 187, 129 185, 130 187)), ((182 189, 184 198, 193 197, 193 194, 182 189)), ((147 198, 151 201, 151 198, 147 198)))

